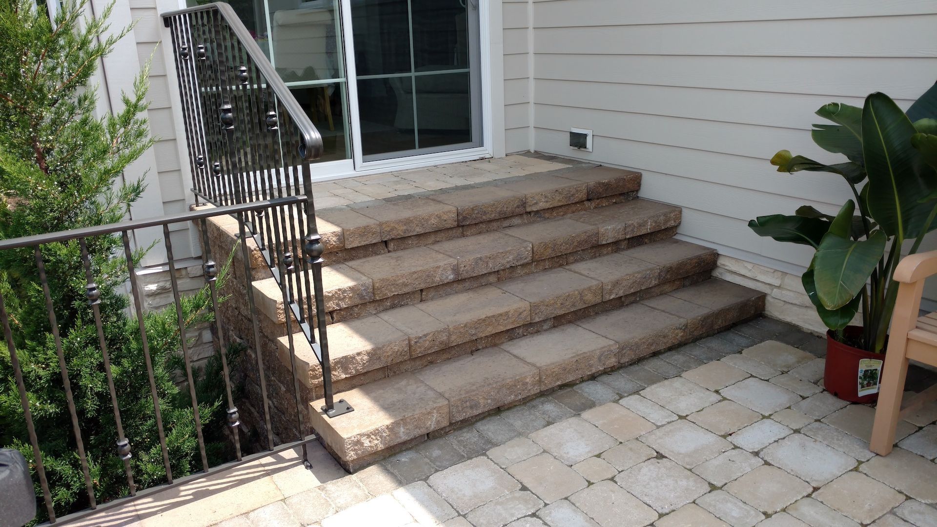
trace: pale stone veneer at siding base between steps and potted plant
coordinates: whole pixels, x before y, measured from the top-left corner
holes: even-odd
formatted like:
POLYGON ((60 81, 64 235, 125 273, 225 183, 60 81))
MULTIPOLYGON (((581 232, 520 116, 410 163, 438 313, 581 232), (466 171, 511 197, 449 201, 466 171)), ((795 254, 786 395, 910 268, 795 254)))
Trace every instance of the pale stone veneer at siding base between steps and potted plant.
POLYGON ((825 334, 826 326, 804 293, 799 275, 792 275, 764 265, 752 264, 731 256, 719 255, 712 272, 714 277, 744 285, 765 293, 765 314, 811 331, 825 334))

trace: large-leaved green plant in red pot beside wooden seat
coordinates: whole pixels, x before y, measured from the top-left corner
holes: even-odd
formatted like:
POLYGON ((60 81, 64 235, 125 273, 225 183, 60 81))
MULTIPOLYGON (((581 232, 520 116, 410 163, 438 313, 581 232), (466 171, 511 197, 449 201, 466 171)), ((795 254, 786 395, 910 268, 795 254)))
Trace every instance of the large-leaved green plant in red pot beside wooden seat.
POLYGON ((816 113, 834 124, 813 125, 813 142, 847 160, 827 165, 781 150, 771 164, 778 172, 839 174, 854 199, 835 216, 804 205, 794 216, 762 216, 749 227, 815 249, 801 281, 829 328, 825 388, 871 402, 898 294, 892 275, 902 252, 916 252, 937 228, 937 84, 907 113, 882 93, 862 108, 830 103, 816 113), (861 325, 852 325, 857 315, 861 325))

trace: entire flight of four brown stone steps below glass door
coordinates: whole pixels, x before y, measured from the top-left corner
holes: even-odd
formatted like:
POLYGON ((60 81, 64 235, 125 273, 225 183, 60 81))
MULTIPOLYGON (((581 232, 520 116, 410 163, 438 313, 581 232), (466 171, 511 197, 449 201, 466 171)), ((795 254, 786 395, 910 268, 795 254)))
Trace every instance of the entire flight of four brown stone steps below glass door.
MULTIPOLYGON (((280 289, 252 248, 272 406, 292 400, 292 339, 308 425, 354 471, 761 312, 764 294, 710 279, 716 251, 673 238, 680 209, 638 199, 640 182, 640 173, 573 165, 319 211, 335 399, 354 406, 334 418, 320 412, 319 363, 301 333, 287 335, 280 289)), ((230 249, 235 231, 218 220, 209 238, 230 249)), ((222 316, 245 339, 250 314, 237 287, 222 316)), ((274 429, 295 429, 288 414, 274 429)))

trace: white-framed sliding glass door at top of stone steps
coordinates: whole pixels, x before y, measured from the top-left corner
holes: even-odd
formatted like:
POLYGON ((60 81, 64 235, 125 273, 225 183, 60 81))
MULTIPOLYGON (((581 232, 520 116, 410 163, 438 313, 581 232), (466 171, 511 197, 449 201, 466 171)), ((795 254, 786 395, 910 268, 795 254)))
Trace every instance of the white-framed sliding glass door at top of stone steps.
POLYGON ((228 1, 319 128, 320 163, 482 145, 479 0, 228 1))

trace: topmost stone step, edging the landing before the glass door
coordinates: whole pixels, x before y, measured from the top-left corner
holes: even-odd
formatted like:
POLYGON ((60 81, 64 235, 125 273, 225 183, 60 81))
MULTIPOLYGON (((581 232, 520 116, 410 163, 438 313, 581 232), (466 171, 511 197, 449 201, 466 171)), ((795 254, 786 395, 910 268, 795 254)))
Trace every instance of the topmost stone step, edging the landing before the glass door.
POLYGON ((633 192, 641 173, 610 167, 570 168, 424 198, 316 213, 326 251, 507 218, 554 206, 633 192))

